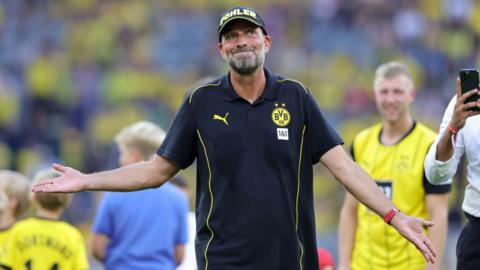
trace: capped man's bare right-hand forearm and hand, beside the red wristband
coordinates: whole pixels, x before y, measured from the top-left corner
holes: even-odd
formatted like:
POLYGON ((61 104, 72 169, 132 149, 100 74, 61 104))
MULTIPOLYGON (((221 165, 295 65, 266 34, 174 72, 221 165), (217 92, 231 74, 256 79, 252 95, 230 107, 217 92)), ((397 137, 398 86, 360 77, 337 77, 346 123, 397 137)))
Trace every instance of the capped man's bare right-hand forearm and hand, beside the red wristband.
MULTIPOLYGON (((381 217, 394 207, 368 174, 347 155, 342 146, 333 147, 320 160, 353 196, 381 217)), ((399 212, 390 224, 420 250, 427 262, 435 262, 435 248, 423 233, 423 227, 433 226, 433 222, 399 212)))

